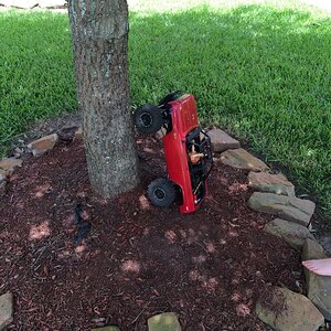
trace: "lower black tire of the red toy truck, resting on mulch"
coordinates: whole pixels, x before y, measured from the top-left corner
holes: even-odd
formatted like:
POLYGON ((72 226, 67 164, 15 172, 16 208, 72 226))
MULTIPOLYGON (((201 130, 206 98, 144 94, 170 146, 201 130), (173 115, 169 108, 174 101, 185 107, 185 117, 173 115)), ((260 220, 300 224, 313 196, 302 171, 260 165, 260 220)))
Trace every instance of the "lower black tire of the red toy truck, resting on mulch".
POLYGON ((148 185, 147 196, 153 205, 169 207, 177 199, 177 190, 168 179, 158 178, 148 185))

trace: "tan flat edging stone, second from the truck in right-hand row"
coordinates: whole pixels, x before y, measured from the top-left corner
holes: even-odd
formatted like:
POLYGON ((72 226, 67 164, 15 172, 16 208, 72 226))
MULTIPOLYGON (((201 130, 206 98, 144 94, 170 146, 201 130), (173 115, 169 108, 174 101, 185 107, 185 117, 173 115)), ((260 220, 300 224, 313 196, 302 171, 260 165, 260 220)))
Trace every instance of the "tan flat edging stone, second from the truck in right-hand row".
POLYGON ((221 161, 233 168, 253 171, 267 171, 269 168, 261 160, 253 157, 245 149, 229 149, 221 154, 221 161))

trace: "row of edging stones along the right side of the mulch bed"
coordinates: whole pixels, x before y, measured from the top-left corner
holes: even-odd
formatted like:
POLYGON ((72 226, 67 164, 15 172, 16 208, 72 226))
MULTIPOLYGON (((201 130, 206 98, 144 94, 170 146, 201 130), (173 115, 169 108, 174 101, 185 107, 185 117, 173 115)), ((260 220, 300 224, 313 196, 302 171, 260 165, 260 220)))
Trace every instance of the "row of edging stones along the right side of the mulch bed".
MULTIPOLYGON (((226 143, 233 141, 220 129, 211 130, 210 136, 217 150, 225 150, 226 143)), ((255 192, 247 202, 248 206, 276 216, 265 225, 266 233, 280 237, 301 252, 302 260, 327 257, 308 228, 316 210, 314 202, 297 197, 295 185, 284 174, 273 173, 267 164, 244 149, 228 147, 216 159, 216 162, 220 161, 249 171, 248 186, 255 192)), ((305 275, 307 297, 287 288, 274 287, 268 302, 265 298, 258 300, 255 312, 261 321, 280 331, 311 331, 331 320, 331 277, 318 276, 308 269, 305 269, 305 275), (269 309, 274 301, 284 301, 278 311, 269 309)))

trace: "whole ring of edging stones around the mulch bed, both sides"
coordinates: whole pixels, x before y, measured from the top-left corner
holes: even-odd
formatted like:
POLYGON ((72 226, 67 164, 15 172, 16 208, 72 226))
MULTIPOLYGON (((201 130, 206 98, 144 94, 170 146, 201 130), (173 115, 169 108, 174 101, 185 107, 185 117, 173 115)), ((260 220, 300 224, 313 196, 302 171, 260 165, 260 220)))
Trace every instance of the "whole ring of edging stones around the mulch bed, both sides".
MULTIPOLYGON (((65 131, 64 126, 64 131, 65 131)), ((82 139, 83 130, 77 125, 68 126, 67 140, 82 139), (77 129, 78 128, 78 129, 77 129), (74 131, 75 130, 75 131, 74 131)), ((62 132, 62 131, 61 131, 62 132)), ((316 204, 312 201, 299 199, 295 194, 295 185, 281 173, 273 173, 270 168, 245 149, 239 141, 220 129, 207 131, 215 151, 215 163, 222 162, 228 167, 244 169, 248 172, 248 186, 255 192, 247 204, 250 209, 276 216, 267 223, 264 231, 285 241, 292 248, 302 252, 302 260, 327 257, 322 246, 309 231, 311 216, 316 204)), ((26 152, 39 157, 54 148, 58 136, 53 132, 40 139, 33 140, 23 148, 22 153, 15 158, 0 160, 0 193, 6 193, 6 184, 15 167, 22 166, 21 158, 26 152)), ((162 135, 156 135, 161 139, 162 135)), ((325 320, 331 320, 331 277, 322 277, 305 270, 308 286, 307 297, 292 292, 286 288, 274 287, 270 302, 260 298, 255 312, 261 321, 280 331, 298 330, 310 331, 325 325, 325 320), (269 309, 273 300, 284 302, 275 312, 269 309)), ((0 302, 7 302, 0 310, 6 311, 0 325, 4 328, 12 320, 12 295, 0 296, 0 302)), ((116 325, 108 325, 93 331, 120 331, 116 325)), ((174 312, 164 312, 148 319, 148 331, 181 331, 178 317, 174 312)))

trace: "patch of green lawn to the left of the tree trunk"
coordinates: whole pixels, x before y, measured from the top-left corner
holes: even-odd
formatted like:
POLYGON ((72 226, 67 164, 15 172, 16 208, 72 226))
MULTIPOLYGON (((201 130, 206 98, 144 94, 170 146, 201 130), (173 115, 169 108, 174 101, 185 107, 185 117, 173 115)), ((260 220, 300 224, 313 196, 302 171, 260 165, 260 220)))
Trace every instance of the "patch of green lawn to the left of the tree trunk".
POLYGON ((66 15, 0 12, 0 152, 26 125, 77 109, 66 15))

